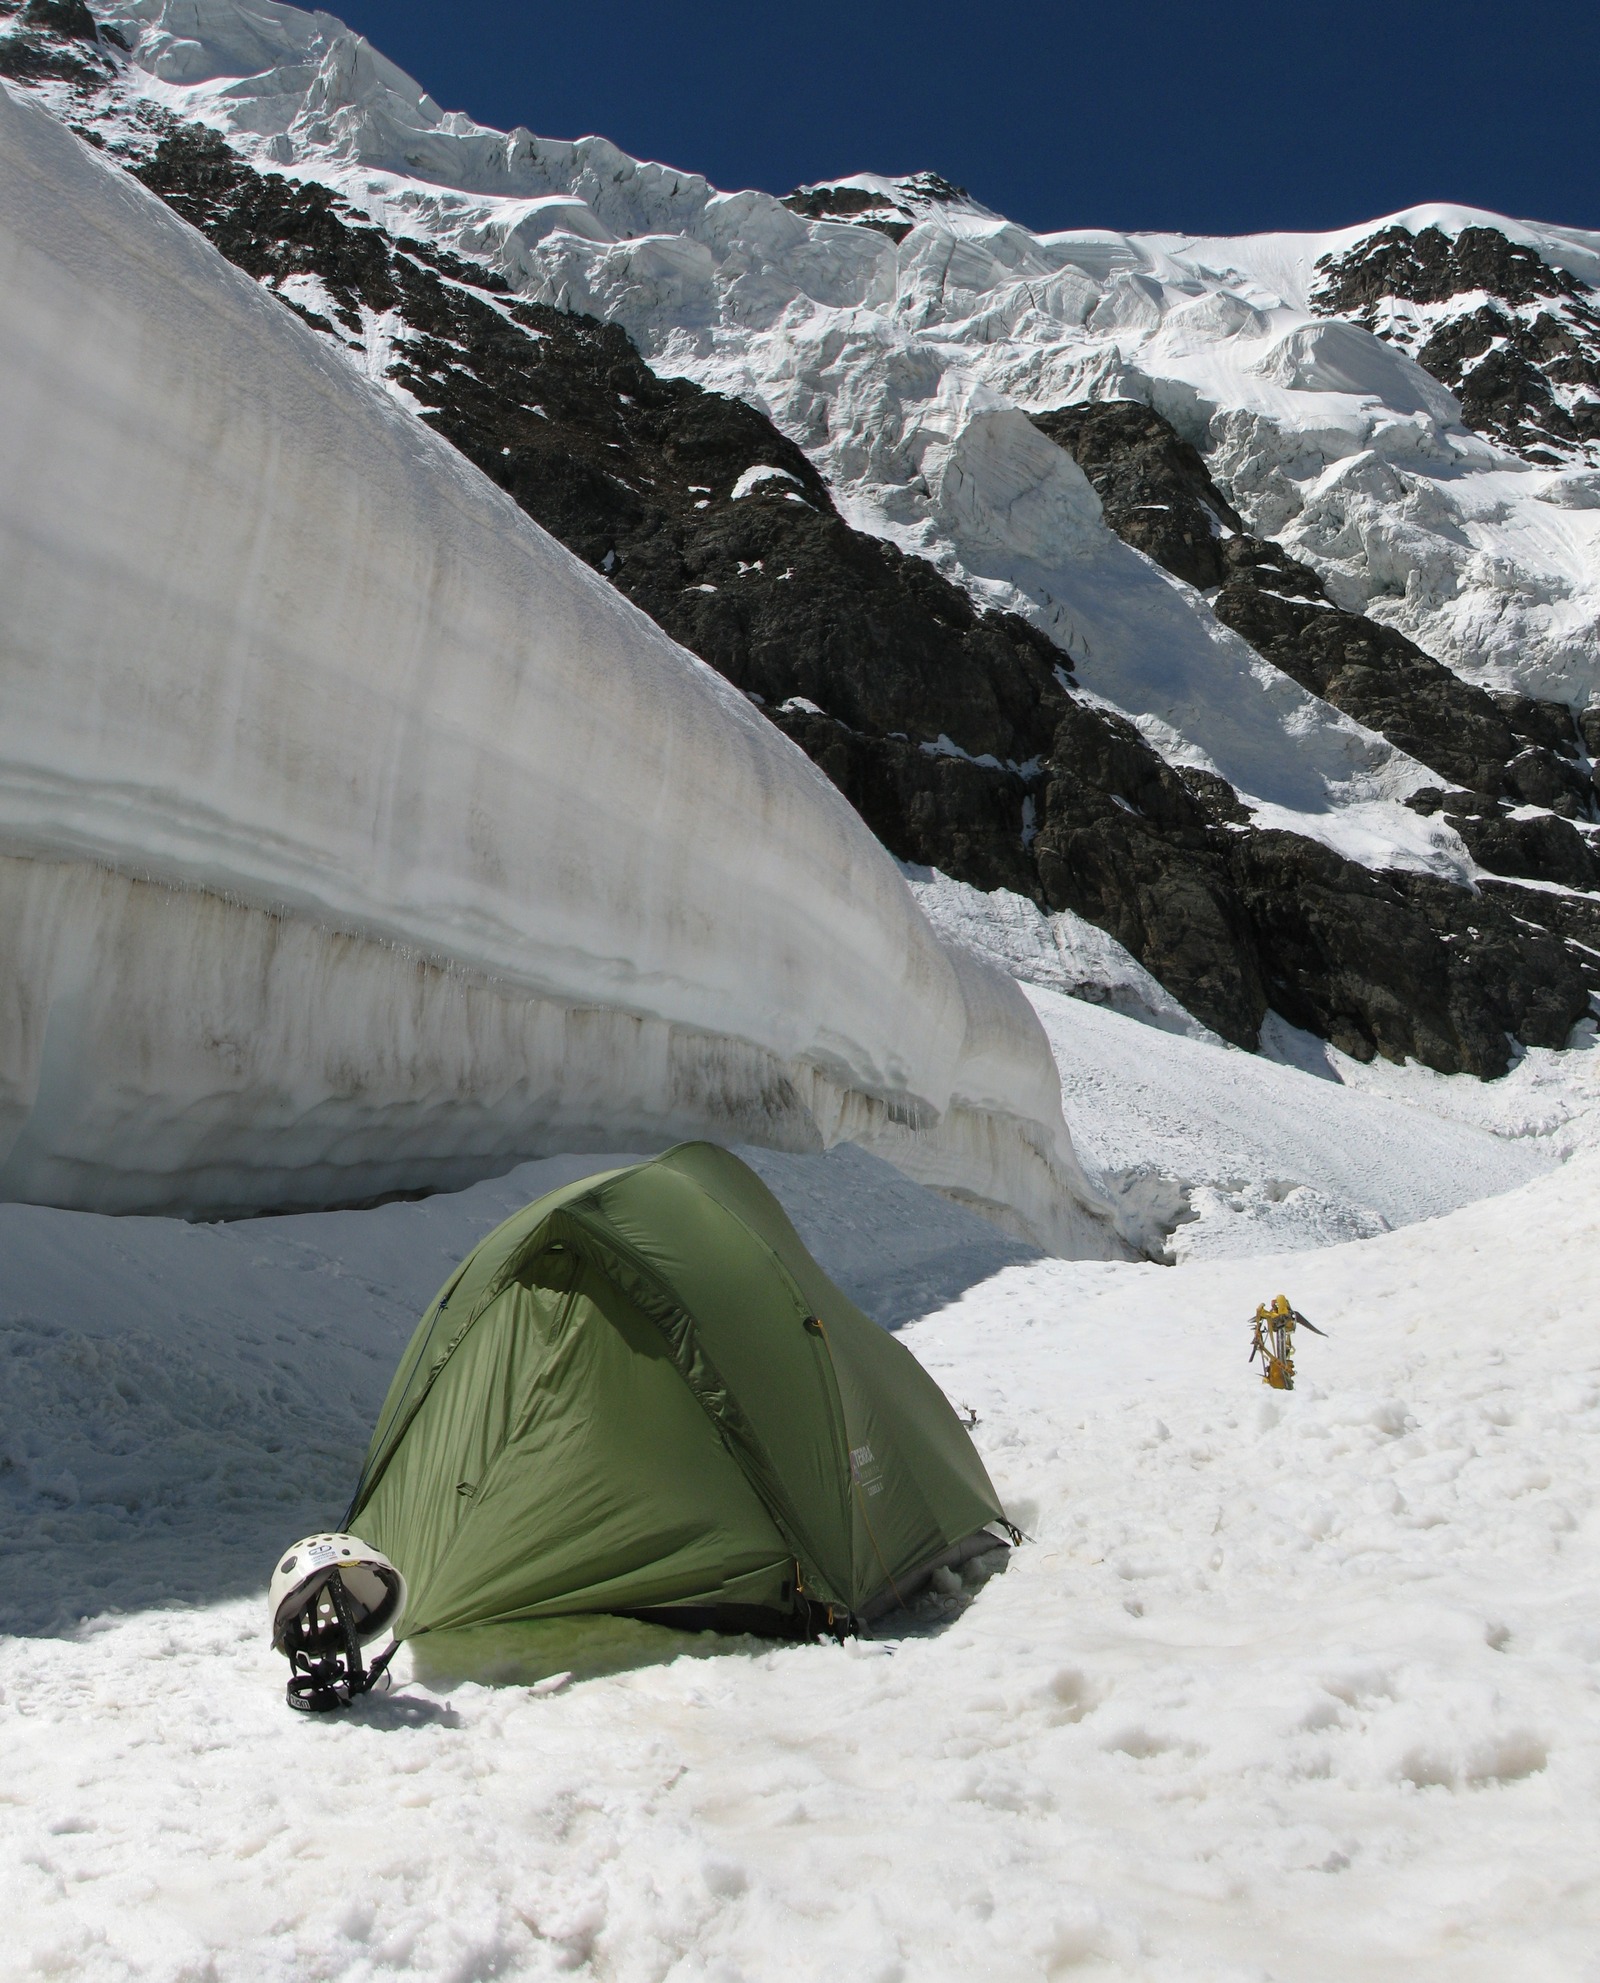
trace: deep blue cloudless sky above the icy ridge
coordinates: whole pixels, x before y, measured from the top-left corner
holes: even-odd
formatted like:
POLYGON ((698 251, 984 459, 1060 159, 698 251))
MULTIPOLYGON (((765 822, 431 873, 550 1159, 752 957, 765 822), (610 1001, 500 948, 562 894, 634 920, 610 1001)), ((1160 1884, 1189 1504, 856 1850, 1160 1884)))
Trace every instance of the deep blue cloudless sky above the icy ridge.
POLYGON ((601 131, 724 188, 930 167, 1033 228, 1328 228, 1420 200, 1600 228, 1594 0, 331 12, 444 109, 601 131))

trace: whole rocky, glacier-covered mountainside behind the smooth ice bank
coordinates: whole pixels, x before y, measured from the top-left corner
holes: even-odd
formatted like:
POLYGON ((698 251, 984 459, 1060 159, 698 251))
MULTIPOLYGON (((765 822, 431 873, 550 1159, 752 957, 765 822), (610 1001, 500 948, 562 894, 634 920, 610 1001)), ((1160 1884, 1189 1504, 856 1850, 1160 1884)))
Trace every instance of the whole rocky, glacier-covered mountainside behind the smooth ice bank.
POLYGON ((323 14, 4 14, 14 89, 920 884, 1086 918, 1241 1045, 1277 1013, 1495 1075, 1594 1009, 1600 234, 1037 236, 932 173, 724 194, 444 113, 323 14))

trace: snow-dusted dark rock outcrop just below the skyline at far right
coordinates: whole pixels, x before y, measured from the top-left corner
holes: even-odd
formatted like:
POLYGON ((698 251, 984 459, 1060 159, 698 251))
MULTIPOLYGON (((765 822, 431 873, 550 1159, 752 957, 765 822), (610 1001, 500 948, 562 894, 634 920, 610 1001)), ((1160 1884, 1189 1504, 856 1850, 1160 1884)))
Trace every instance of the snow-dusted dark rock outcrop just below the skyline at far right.
POLYGON ((1594 293, 1499 228, 1382 228, 1322 256, 1313 309, 1404 345, 1461 401, 1461 418, 1533 462, 1600 440, 1594 293), (1429 305, 1487 301, 1459 313, 1429 305), (1422 305, 1406 309, 1404 305, 1422 305))

